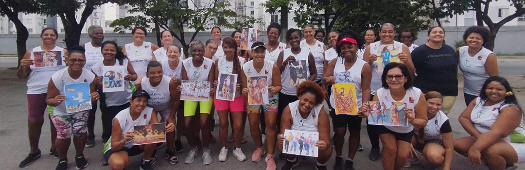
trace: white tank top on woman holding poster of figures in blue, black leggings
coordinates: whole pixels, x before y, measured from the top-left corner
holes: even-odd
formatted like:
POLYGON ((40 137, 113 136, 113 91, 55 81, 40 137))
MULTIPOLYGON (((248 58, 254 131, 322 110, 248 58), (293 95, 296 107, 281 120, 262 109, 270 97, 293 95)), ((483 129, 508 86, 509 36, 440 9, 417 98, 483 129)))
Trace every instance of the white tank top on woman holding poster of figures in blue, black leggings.
MULTIPOLYGON (((128 72, 128 62, 129 62, 128 59, 124 59, 122 61, 122 66, 124 66, 124 75, 128 75, 129 74, 129 72, 128 72)), ((119 60, 117 60, 115 62, 115 65, 113 65, 113 66, 120 66, 119 60)), ((103 61, 100 61, 100 62, 96 63, 95 65, 93 65, 91 67, 91 71, 93 71, 95 73, 95 76, 97 76, 97 77, 104 75, 103 70, 104 70, 104 63, 103 63, 103 61)), ((132 90, 131 90, 130 82, 129 81, 125 82, 124 83, 124 91, 116 91, 116 92, 106 92, 106 93, 104 93, 106 95, 106 98, 105 98, 106 105, 108 107, 110 107, 110 106, 123 105, 125 103, 128 103, 128 102, 130 102, 130 99, 131 99, 131 93, 132 93, 132 90)))

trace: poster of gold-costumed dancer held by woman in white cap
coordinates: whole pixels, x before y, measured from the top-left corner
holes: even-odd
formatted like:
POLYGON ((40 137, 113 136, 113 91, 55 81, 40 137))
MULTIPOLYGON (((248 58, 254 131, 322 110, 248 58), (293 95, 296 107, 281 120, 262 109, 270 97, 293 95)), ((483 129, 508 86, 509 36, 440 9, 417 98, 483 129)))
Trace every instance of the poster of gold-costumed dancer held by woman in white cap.
POLYGON ((268 104, 268 82, 266 76, 248 77, 248 105, 268 104))

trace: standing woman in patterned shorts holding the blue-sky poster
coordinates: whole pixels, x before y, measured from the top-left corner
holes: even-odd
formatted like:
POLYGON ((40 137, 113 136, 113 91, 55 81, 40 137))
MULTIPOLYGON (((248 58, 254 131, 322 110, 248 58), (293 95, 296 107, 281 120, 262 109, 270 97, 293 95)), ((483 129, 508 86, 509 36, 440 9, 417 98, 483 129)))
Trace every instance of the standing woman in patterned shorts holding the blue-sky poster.
MULTIPOLYGON (((71 135, 73 135, 73 143, 75 144, 75 162, 77 169, 83 169, 88 166, 88 161, 83 155, 83 150, 88 137, 86 133, 86 122, 89 110, 67 113, 65 101, 66 92, 64 89, 66 84, 88 82, 90 90, 89 97, 95 101, 99 99, 99 94, 95 91, 97 86, 95 75, 83 68, 86 64, 84 50, 85 49, 80 46, 71 47, 68 59, 66 60, 68 67, 53 73, 47 86, 46 103, 53 107, 51 120, 53 120, 53 124, 57 129, 55 146, 57 147, 60 160, 58 161, 56 169, 60 170, 67 169, 68 166, 67 151, 71 143, 71 135)), ((80 93, 82 92, 80 91, 80 93)), ((80 94, 79 97, 81 97, 80 94)), ((86 100, 86 98, 88 97, 82 99, 86 100)))

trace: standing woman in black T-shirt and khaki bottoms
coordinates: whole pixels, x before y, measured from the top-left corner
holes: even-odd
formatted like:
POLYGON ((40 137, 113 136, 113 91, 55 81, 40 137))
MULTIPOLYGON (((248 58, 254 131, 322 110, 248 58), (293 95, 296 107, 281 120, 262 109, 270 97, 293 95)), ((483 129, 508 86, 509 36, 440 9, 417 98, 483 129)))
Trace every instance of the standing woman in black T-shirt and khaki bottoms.
MULTIPOLYGON (((454 48, 443 44, 445 30, 436 26, 428 30, 428 42, 412 51, 417 76, 414 87, 424 93, 437 91, 443 95, 445 114, 450 112, 458 95, 458 57, 454 48)), ((478 85, 479 86, 479 85, 478 85)))

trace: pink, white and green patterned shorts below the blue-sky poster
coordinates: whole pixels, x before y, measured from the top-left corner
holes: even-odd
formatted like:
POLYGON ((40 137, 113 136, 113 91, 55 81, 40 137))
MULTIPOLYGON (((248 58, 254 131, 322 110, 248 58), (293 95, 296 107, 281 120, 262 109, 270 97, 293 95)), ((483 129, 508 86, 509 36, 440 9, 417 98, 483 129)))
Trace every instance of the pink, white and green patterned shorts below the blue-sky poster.
POLYGON ((80 136, 86 133, 89 110, 71 115, 53 115, 51 120, 57 129, 57 139, 69 139, 71 134, 80 136))

